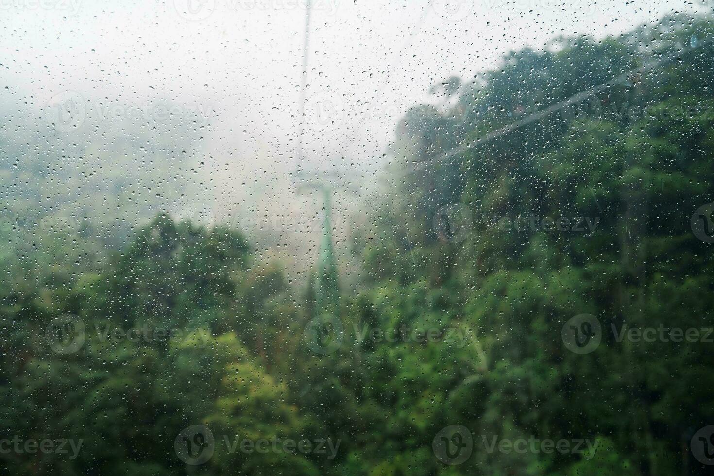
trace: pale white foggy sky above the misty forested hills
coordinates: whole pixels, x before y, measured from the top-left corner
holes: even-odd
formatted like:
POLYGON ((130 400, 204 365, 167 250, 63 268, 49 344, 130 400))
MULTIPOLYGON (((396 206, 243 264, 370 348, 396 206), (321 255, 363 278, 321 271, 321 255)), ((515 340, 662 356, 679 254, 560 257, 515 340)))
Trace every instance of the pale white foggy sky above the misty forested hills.
MULTIPOLYGON (((306 0, 0 0, 0 81, 208 111, 208 151, 290 164, 306 0), (150 87, 151 86, 151 87, 150 87), (246 132, 243 132, 246 131, 246 132)), ((451 75, 558 34, 616 34, 684 1, 313 0, 306 155, 373 163, 408 106, 451 75)), ((7 94, 7 92, 5 91, 7 94)))

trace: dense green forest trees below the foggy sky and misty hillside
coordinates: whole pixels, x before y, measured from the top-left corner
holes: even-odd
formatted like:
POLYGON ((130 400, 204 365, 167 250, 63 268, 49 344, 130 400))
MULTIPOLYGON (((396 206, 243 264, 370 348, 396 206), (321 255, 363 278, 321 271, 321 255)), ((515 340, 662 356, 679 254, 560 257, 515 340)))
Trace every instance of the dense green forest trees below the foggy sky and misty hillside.
POLYGON ((168 210, 128 243, 20 226, 48 171, 4 131, 0 468, 708 474, 713 47, 673 14, 445 79, 397 124, 372 223, 336 247, 323 213, 304 279, 168 210))

